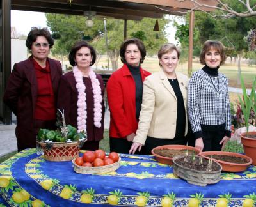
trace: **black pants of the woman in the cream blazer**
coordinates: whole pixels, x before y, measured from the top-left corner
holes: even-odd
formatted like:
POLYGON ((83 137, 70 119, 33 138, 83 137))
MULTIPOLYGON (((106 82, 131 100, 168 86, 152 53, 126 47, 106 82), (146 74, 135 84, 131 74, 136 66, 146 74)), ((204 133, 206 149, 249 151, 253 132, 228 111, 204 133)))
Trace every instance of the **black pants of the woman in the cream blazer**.
POLYGON ((147 137, 145 145, 143 146, 143 153, 145 155, 151 155, 151 150, 157 146, 167 144, 187 144, 187 137, 175 137, 173 139, 159 139, 154 137, 147 137))

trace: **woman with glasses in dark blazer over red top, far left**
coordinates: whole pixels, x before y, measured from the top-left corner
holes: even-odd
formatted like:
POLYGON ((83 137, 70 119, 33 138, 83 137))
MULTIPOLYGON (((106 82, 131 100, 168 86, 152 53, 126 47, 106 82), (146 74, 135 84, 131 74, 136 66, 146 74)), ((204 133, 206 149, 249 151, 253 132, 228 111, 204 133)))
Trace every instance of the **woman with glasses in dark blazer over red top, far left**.
POLYGON ((36 147, 39 128, 56 128, 56 95, 62 75, 59 61, 48 58, 54 40, 47 28, 33 27, 26 46, 31 56, 15 63, 4 102, 17 116, 18 151, 36 147))

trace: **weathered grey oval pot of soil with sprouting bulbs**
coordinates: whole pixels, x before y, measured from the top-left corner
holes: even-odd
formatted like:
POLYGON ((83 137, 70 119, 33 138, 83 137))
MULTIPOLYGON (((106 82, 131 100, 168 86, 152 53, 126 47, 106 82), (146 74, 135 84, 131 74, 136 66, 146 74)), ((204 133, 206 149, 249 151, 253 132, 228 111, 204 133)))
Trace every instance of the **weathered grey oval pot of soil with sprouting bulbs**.
POLYGON ((173 173, 193 185, 205 186, 220 181, 222 167, 214 160, 195 155, 173 157, 173 173))

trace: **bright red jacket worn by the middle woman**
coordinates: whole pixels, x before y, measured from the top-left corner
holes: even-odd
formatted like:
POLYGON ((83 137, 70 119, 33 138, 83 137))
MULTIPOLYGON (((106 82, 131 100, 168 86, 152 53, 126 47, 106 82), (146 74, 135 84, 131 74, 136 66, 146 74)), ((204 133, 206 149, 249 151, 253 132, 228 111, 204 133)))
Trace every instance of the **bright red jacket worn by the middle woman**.
MULTIPOLYGON (((150 75, 140 68, 141 79, 150 75)), ((108 104, 110 109, 109 136, 125 138, 132 132, 136 134, 135 82, 126 64, 112 73, 107 83, 108 104)))

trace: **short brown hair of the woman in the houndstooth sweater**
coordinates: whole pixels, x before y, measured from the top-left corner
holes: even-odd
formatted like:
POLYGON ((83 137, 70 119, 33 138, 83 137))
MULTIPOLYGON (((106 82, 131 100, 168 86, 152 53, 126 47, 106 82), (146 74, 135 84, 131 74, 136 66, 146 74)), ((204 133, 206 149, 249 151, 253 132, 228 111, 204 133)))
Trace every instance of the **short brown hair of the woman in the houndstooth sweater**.
POLYGON ((200 63, 202 65, 205 65, 205 54, 211 49, 214 49, 218 53, 220 53, 220 56, 221 56, 220 65, 223 65, 227 57, 225 56, 225 47, 223 43, 221 43, 218 40, 207 40, 204 42, 204 46, 200 54, 200 63))

